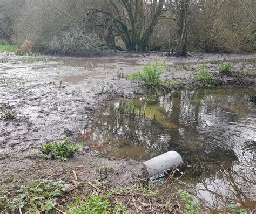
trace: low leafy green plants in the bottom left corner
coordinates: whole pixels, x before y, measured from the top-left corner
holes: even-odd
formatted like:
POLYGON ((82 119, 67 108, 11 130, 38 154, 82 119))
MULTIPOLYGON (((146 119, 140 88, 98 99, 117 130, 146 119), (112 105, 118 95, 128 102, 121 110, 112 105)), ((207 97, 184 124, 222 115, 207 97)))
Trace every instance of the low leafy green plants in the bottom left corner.
POLYGON ((22 185, 19 194, 5 201, 5 209, 11 212, 21 209, 24 213, 49 213, 57 203, 57 197, 68 191, 70 184, 64 181, 36 180, 22 185))

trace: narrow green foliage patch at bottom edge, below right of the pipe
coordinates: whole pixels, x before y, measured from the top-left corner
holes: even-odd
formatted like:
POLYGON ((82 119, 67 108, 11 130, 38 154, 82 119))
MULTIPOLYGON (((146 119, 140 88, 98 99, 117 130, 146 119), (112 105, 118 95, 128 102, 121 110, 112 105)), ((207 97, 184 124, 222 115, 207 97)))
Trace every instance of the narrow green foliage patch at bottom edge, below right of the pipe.
POLYGON ((184 190, 179 190, 178 194, 183 199, 185 208, 187 209, 187 212, 184 213, 200 213, 200 204, 195 201, 193 196, 191 196, 190 194, 188 194, 188 192, 184 190))

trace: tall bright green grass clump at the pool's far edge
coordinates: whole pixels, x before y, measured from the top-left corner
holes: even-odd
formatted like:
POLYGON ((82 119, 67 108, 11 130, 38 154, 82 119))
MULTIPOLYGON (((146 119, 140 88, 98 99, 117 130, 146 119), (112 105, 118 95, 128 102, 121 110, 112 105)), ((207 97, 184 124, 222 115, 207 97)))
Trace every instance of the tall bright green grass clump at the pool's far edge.
POLYGON ((142 72, 138 71, 137 73, 130 75, 127 79, 140 79, 144 82, 144 87, 147 89, 157 88, 161 83, 160 75, 166 71, 166 67, 164 65, 165 61, 158 63, 158 59, 156 59, 153 65, 142 66, 142 72))

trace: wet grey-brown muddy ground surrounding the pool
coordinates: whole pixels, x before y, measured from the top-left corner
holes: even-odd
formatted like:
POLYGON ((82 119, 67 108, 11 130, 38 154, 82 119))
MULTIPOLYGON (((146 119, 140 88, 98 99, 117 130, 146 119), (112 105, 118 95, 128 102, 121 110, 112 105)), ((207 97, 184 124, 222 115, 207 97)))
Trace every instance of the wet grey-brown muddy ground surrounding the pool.
MULTIPOLYGON (((94 167, 101 165, 113 168, 114 173, 109 175, 110 187, 132 185, 132 181, 147 176, 143 164, 103 157, 95 150, 95 145, 86 143, 90 133, 85 132, 94 111, 104 101, 146 93, 141 82, 123 77, 140 70, 143 64, 153 64, 158 58, 166 60, 166 65, 170 66, 163 79, 183 81, 173 86, 174 89, 194 88, 197 86, 193 77, 203 62, 211 72, 218 72, 218 64, 210 63, 217 59, 232 61, 234 71, 255 74, 255 67, 248 61, 255 57, 256 54, 197 53, 176 58, 127 52, 98 58, 63 58, 0 53, 0 109, 9 108, 17 114, 14 120, 0 120, 1 189, 17 188, 28 181, 52 175, 72 183, 72 170, 77 172, 79 182, 96 182, 94 167), (177 64, 179 66, 175 66, 177 64), (62 162, 33 157, 36 146, 66 137, 86 144, 71 160, 62 162)), ((246 86, 255 86, 254 77, 246 78, 246 86)), ((232 80, 227 77, 223 85, 235 84, 232 80)))

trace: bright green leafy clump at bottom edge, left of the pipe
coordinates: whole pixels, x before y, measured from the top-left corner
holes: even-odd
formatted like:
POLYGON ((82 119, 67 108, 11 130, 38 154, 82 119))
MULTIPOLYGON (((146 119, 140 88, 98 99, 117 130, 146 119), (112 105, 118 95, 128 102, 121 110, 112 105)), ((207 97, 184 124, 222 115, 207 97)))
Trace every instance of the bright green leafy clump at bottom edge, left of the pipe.
POLYGON ((78 213, 128 213, 125 210, 123 204, 111 204, 107 199, 101 196, 90 195, 89 198, 83 201, 81 197, 76 198, 76 202, 69 205, 67 214, 78 214, 78 213))

